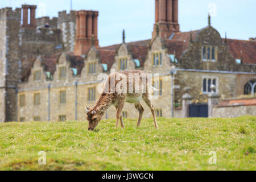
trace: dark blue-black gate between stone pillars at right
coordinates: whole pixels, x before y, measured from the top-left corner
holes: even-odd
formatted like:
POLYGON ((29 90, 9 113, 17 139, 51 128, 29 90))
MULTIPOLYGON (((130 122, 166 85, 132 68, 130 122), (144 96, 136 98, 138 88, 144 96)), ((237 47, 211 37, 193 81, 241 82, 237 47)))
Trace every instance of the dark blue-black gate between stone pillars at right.
POLYGON ((190 104, 190 118, 208 118, 208 104, 190 104))

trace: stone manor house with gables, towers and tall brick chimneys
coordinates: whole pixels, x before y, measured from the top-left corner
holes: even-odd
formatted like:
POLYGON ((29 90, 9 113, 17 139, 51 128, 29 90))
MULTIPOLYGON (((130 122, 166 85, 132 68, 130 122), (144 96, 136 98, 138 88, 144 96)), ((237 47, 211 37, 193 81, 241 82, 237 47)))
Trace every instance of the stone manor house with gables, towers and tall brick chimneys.
MULTIPOLYGON (((207 102, 211 85, 221 99, 256 93, 255 38, 221 38, 210 16, 206 27, 181 32, 177 0, 155 0, 151 39, 126 43, 123 32, 122 43, 108 47, 99 46, 98 11, 61 11, 52 19, 35 13, 32 5, 0 10, 0 122, 84 121, 84 107, 100 95, 97 76, 112 68, 159 73, 152 83, 158 117, 181 117, 186 88, 195 103, 207 102)), ((122 114, 138 115, 132 104, 122 114)), ((104 118, 115 118, 115 108, 104 118)))

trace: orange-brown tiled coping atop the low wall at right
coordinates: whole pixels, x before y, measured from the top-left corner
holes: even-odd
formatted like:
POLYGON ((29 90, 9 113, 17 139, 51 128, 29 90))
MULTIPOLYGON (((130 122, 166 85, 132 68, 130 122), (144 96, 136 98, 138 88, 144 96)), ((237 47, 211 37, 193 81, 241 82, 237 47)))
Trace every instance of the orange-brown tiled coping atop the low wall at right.
POLYGON ((256 98, 249 99, 234 99, 222 101, 217 107, 228 107, 228 106, 254 106, 256 105, 256 98))

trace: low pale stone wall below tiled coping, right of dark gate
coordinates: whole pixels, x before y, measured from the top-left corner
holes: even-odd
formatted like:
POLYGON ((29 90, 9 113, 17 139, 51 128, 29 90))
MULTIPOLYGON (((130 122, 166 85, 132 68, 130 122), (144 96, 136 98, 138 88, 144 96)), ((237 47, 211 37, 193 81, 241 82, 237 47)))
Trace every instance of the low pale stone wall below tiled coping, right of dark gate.
POLYGON ((214 118, 234 118, 241 115, 255 115, 256 106, 226 106, 226 107, 213 107, 214 118))

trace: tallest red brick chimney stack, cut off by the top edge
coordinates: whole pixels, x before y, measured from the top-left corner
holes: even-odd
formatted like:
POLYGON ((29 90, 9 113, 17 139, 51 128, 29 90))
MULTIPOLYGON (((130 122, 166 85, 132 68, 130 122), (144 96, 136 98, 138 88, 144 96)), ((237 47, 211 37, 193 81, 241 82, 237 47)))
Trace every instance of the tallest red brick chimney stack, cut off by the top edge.
POLYGON ((156 36, 156 24, 159 36, 168 39, 173 32, 179 32, 178 0, 155 0, 155 24, 152 39, 156 36))

